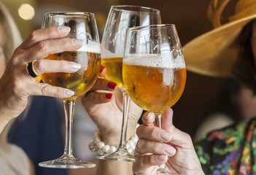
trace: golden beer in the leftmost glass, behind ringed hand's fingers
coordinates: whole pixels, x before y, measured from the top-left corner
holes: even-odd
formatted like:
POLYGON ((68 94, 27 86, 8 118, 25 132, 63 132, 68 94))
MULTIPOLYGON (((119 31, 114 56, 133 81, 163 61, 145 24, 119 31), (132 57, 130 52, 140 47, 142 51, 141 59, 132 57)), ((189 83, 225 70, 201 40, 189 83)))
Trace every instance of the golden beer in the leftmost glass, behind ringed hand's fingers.
POLYGON ((81 64, 81 68, 74 73, 63 72, 42 74, 42 81, 62 88, 74 91, 74 96, 66 100, 74 100, 93 87, 101 69, 101 55, 95 52, 61 52, 48 55, 48 60, 73 61, 81 64))

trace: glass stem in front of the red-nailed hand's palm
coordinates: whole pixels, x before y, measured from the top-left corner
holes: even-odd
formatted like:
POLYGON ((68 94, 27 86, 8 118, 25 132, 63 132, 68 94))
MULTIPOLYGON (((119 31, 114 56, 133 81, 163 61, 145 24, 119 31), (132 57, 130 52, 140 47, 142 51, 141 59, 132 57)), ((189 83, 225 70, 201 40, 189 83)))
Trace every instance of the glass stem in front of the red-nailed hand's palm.
POLYGON ((128 111, 130 106, 131 98, 128 96, 128 93, 123 92, 123 122, 122 122, 122 131, 120 144, 118 148, 126 149, 126 133, 128 125, 128 111))

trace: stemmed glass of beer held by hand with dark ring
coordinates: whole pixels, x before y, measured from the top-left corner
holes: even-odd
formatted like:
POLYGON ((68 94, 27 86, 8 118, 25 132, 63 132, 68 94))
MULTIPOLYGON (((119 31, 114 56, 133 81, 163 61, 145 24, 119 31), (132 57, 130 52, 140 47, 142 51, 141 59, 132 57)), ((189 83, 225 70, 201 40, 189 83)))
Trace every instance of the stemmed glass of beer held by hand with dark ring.
POLYGON ((96 20, 94 14, 90 12, 47 12, 44 14, 42 28, 48 26, 69 26, 71 30, 66 37, 82 39, 83 43, 78 50, 67 50, 44 58, 73 61, 79 63, 81 68, 71 74, 63 72, 42 74, 44 83, 73 90, 74 96, 63 99, 66 119, 64 153, 61 158, 39 163, 39 166, 49 168, 93 168, 96 166, 94 163, 74 158, 72 154, 72 126, 76 98, 93 87, 101 68, 101 47, 96 20))

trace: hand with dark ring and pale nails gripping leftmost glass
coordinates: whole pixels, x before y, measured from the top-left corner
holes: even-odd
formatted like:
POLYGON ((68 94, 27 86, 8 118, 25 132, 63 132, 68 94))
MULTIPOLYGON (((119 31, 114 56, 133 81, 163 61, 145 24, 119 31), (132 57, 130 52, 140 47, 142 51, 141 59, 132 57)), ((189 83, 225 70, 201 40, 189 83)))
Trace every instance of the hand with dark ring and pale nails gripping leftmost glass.
POLYGON ((80 40, 64 38, 69 30, 67 27, 52 26, 33 31, 15 50, 0 79, 1 120, 11 120, 23 112, 28 96, 67 98, 74 94, 68 89, 36 82, 26 70, 26 64, 34 61, 34 71, 37 74, 77 71, 80 66, 77 63, 43 59, 49 54, 77 50, 82 46, 80 40))

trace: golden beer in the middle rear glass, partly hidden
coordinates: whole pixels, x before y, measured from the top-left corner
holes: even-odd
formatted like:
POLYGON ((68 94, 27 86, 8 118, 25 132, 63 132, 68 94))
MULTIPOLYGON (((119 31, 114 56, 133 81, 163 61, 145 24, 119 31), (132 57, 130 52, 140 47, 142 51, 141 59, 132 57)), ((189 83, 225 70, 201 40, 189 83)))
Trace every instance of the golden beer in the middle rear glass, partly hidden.
POLYGON ((102 65, 106 67, 106 77, 112 82, 117 83, 119 88, 123 85, 123 58, 104 58, 102 59, 102 65))

